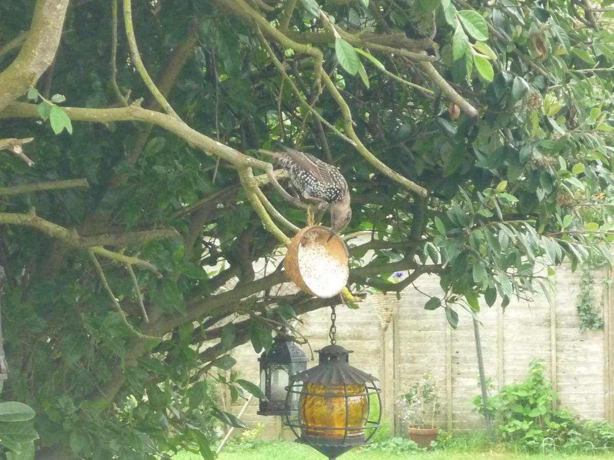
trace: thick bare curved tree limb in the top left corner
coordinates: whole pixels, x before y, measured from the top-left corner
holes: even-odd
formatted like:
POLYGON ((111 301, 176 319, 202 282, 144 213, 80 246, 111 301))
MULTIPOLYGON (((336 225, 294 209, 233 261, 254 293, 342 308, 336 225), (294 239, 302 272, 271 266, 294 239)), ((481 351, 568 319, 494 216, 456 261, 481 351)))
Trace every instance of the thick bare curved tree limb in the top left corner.
POLYGON ((37 0, 28 36, 15 61, 0 74, 0 110, 36 85, 53 62, 68 3, 69 0, 37 0))

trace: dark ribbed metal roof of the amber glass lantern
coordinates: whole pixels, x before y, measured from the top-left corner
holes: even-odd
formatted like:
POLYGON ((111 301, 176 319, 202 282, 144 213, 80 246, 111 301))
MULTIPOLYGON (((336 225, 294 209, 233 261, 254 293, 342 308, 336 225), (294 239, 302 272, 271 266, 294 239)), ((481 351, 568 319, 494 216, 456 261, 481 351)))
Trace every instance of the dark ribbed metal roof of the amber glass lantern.
POLYGON ((317 383, 320 385, 365 385, 378 380, 373 375, 349 365, 348 355, 352 353, 341 345, 327 345, 316 350, 320 355, 319 364, 290 377, 290 381, 317 383))

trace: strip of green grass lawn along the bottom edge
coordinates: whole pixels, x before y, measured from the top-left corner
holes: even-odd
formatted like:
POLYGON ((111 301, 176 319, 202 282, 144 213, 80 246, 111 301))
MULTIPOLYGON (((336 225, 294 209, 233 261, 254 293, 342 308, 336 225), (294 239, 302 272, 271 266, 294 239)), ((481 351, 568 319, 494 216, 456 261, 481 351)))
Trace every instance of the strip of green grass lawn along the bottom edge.
MULTIPOLYGON (((388 460, 388 459, 412 459, 412 460, 475 460, 475 459, 494 459, 494 460, 553 460, 558 458, 569 458, 570 460, 594 460, 595 458, 605 459, 606 454, 525 454, 504 451, 503 448, 483 448, 481 450, 471 450, 466 452, 454 450, 437 450, 424 453, 404 453, 395 455, 391 453, 379 452, 360 452, 349 451, 340 457, 342 460, 388 460)), ((608 458, 612 453, 608 453, 608 458)), ((201 460, 201 456, 195 454, 182 453, 174 457, 176 460, 201 460)), ((326 460, 325 456, 313 450, 313 448, 293 442, 271 442, 262 447, 249 450, 234 452, 223 452, 219 456, 220 460, 326 460)))

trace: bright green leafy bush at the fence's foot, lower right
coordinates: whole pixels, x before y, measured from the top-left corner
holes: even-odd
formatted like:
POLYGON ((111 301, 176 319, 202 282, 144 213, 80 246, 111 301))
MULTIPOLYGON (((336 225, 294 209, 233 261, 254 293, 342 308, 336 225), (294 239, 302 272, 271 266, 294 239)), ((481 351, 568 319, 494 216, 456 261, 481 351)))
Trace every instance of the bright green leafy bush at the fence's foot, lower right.
MULTIPOLYGON (((489 399, 487 410, 497 421, 503 440, 529 451, 538 450, 546 439, 554 447, 570 451, 612 448, 614 431, 609 424, 581 421, 567 408, 554 408, 558 394, 544 377, 544 370, 542 360, 532 361, 526 380, 505 385, 489 399)), ((481 396, 476 396, 473 404, 483 413, 481 396)))

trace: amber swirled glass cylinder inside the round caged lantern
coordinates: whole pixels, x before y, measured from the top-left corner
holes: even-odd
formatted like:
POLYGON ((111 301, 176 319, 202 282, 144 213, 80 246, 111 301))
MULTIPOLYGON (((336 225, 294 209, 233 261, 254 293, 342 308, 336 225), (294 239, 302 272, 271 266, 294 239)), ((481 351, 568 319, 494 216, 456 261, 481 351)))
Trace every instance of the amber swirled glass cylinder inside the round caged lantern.
POLYGON ((324 439, 364 437, 368 416, 364 385, 308 383, 303 386, 303 393, 300 417, 306 435, 324 439), (354 394, 360 396, 351 396, 354 394), (330 429, 335 427, 340 429, 330 429))

